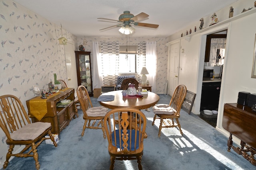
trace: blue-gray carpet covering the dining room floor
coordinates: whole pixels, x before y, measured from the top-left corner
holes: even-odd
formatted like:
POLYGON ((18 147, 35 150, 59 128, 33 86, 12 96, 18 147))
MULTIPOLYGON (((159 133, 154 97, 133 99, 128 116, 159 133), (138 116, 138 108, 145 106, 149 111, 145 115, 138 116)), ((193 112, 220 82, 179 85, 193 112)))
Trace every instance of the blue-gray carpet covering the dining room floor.
MULTIPOLYGON (((91 98, 100 106, 97 98, 91 98)), ((160 95, 159 103, 168 104, 170 96, 160 95)), ((216 131, 197 115, 181 111, 180 124, 184 135, 177 128, 162 129, 158 138, 159 119, 152 126, 153 111, 142 110, 148 118, 144 140, 142 166, 144 170, 254 170, 241 155, 227 152, 227 137, 216 131)), ((86 129, 81 137, 84 119, 79 117, 60 133, 58 147, 42 143, 38 147, 41 170, 107 170, 110 166, 108 141, 101 130, 86 129)), ((7 150, 6 150, 7 152, 7 150)), ((4 161, 4 160, 2 160, 4 161)), ((6 170, 35 169, 34 159, 14 158, 6 170)), ((136 170, 136 160, 116 160, 116 170, 136 170)))

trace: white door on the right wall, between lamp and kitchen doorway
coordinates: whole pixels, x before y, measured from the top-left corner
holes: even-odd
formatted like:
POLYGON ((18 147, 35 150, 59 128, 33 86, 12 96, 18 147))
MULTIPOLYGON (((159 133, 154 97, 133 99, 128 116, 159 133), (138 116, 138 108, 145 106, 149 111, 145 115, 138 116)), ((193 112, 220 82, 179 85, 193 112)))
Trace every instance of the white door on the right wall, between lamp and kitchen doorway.
POLYGON ((179 63, 180 63, 180 42, 169 46, 169 90, 168 94, 172 96, 179 81, 179 63))

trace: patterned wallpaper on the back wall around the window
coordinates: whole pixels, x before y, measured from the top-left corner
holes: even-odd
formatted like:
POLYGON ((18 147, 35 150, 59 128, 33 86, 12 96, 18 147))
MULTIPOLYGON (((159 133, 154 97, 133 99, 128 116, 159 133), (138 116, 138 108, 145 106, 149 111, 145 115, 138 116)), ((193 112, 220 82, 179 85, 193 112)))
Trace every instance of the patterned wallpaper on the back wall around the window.
MULTIPOLYGON (((137 28, 143 29, 143 28, 137 28)), ((112 31, 118 31, 117 29, 112 31)), ((92 42, 98 41, 119 41, 119 45, 126 45, 128 41, 128 45, 138 45, 141 41, 156 41, 156 50, 157 50, 157 70, 156 70, 156 93, 163 94, 165 81, 167 80, 167 63, 168 63, 168 47, 166 43, 168 43, 167 37, 78 37, 77 43, 75 47, 78 50, 78 46, 83 44, 84 38, 86 38, 87 45, 85 46, 85 51, 92 52, 92 42)), ((93 53, 91 53, 91 57, 93 57, 93 53)), ((93 72, 92 72, 93 75, 93 72)))

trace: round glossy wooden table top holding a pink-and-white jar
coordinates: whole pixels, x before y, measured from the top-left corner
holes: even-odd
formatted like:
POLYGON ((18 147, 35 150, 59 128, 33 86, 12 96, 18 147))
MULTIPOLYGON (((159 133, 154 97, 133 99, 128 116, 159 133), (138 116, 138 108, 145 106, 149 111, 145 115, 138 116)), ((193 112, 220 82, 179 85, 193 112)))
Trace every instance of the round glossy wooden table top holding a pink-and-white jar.
POLYGON ((154 106, 159 100, 159 96, 155 93, 148 92, 147 95, 142 95, 143 98, 124 98, 122 90, 116 90, 104 93, 102 95, 114 95, 115 98, 110 102, 100 102, 102 106, 109 109, 115 109, 120 107, 132 107, 136 109, 147 109, 154 106))

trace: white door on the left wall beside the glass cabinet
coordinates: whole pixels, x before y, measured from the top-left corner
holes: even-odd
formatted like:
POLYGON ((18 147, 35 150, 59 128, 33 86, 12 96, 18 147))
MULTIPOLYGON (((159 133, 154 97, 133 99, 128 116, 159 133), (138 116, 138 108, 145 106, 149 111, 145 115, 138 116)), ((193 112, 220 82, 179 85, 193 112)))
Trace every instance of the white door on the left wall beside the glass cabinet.
POLYGON ((65 50, 65 58, 66 58, 66 69, 67 69, 67 81, 69 88, 76 89, 78 87, 77 83, 77 74, 76 74, 76 55, 75 55, 75 47, 74 44, 68 42, 67 45, 64 45, 65 50))

